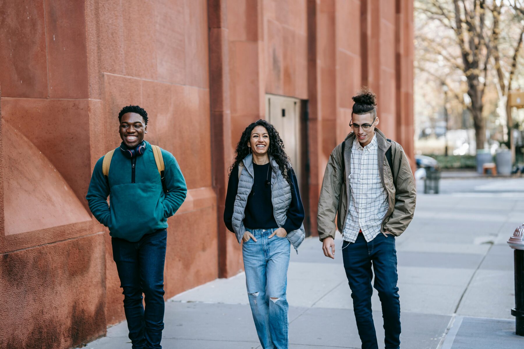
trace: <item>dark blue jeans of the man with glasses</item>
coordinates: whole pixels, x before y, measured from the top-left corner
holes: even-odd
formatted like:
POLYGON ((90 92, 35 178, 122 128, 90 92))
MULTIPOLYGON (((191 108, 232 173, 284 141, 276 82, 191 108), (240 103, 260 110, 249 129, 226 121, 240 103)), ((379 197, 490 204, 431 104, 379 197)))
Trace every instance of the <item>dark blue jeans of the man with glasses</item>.
POLYGON ((397 287, 397 250, 395 237, 379 233, 366 242, 362 233, 354 243, 344 241, 342 256, 347 280, 351 288, 353 309, 363 349, 378 349, 375 325, 371 311, 373 288, 371 279, 375 272, 374 287, 382 304, 384 318, 384 343, 386 349, 400 348, 400 302, 397 287))

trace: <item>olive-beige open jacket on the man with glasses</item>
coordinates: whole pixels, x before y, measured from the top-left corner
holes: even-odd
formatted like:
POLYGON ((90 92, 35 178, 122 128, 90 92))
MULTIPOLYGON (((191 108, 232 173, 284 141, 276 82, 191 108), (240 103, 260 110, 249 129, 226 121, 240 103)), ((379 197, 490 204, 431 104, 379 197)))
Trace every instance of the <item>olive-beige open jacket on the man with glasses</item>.
MULTIPOLYGON (((379 129, 375 129, 378 141, 378 170, 382 184, 388 193, 389 208, 382 221, 381 231, 387 231, 395 236, 402 234, 408 228, 415 211, 417 191, 411 167, 404 150, 395 141, 389 142, 379 129), (386 151, 391 147, 393 170, 391 173, 386 151), (395 179, 394 179, 395 178, 395 179)), ((344 147, 345 169, 342 168, 342 143, 331 152, 324 172, 324 180, 320 189, 317 224, 320 240, 327 237, 335 238, 336 228, 344 231, 347 216, 347 203, 350 199, 350 186, 347 177, 351 173, 351 148, 355 134, 347 135, 344 147), (344 180, 345 178, 345 180, 344 180), (335 227, 335 217, 337 216, 335 227)))

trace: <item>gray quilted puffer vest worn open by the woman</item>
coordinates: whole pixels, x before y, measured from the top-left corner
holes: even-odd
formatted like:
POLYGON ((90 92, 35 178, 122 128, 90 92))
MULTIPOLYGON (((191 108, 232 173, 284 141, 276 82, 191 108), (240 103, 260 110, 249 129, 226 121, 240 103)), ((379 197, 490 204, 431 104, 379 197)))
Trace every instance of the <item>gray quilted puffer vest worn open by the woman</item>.
MULTIPOLYGON (((245 209, 247 205, 247 197, 251 193, 254 181, 253 171, 253 155, 249 154, 244 158, 244 166, 239 166, 238 171, 241 171, 238 179, 238 191, 236 194, 235 205, 233 208, 233 230, 235 231, 238 243, 242 242, 242 237, 246 231, 244 227, 245 209), (243 170, 243 167, 244 170, 243 170)), ((271 156, 269 156, 269 164, 271 166, 271 201, 273 203, 273 215, 279 227, 282 227, 287 219, 287 212, 289 205, 291 205, 291 187, 282 175, 278 164, 271 156)), ((304 224, 300 228, 288 232, 287 238, 297 250, 305 237, 304 224)), ((298 253, 298 251, 297 251, 298 253)))

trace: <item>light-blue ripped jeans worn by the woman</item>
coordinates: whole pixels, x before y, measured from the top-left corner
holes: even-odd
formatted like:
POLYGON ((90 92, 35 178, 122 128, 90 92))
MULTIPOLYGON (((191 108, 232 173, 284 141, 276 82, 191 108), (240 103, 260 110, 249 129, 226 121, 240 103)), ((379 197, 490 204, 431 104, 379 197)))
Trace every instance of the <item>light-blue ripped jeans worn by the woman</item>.
POLYGON ((242 244, 247 295, 264 349, 288 349, 288 266, 290 243, 276 229, 247 229, 257 241, 242 244))

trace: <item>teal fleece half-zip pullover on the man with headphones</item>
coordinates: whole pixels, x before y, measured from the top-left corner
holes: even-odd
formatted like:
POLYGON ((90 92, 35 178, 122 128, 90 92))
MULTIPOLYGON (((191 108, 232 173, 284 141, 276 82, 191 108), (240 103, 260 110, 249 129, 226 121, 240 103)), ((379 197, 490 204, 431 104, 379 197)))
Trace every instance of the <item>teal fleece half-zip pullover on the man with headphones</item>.
POLYGON ((177 160, 162 149, 168 190, 164 194, 151 144, 145 142, 145 147, 144 154, 133 159, 128 159, 116 148, 108 179, 102 173, 104 156, 93 170, 86 199, 93 216, 109 228, 113 238, 135 242, 145 234, 166 229, 168 217, 179 209, 187 194, 177 160))

